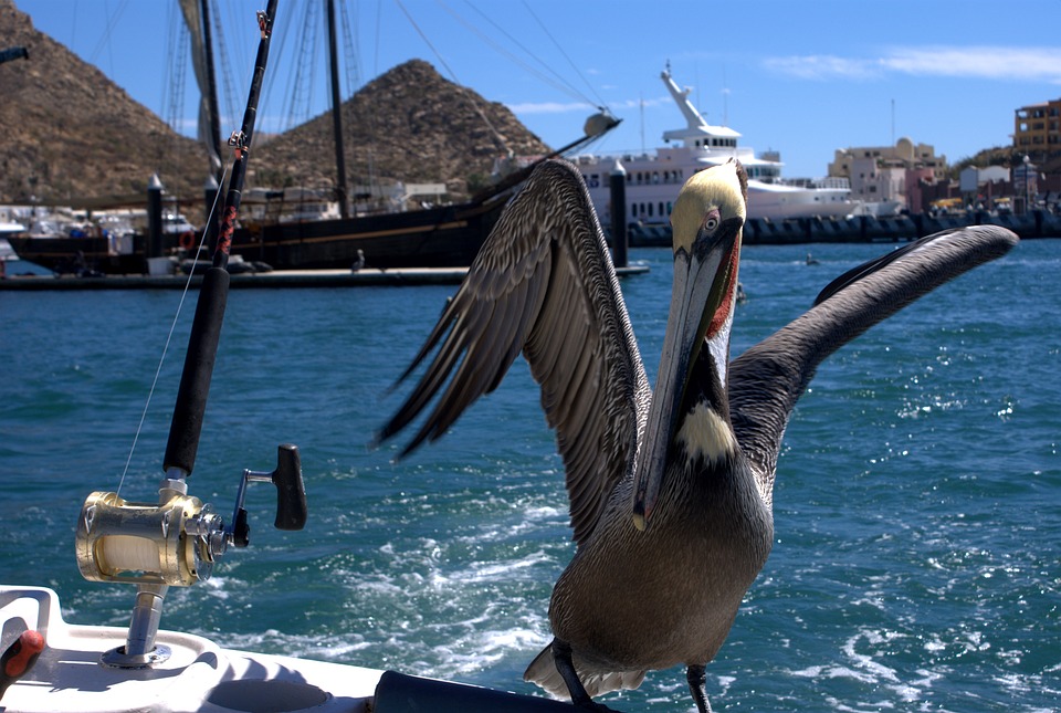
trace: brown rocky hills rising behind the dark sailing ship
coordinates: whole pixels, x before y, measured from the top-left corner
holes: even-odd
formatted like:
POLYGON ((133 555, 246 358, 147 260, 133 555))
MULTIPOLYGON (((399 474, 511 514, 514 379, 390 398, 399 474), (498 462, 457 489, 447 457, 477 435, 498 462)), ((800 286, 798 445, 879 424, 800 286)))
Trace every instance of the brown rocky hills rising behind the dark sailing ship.
MULTIPOLYGON (((0 202, 137 196, 158 172, 171 195, 198 198, 206 151, 172 132, 102 72, 0 0, 0 43, 29 60, 0 64, 0 202)), ((0 49, 3 49, 0 48, 0 49)), ((283 62, 274 54, 271 62, 283 62)), ((442 78, 419 60, 392 69, 343 104, 348 182, 442 182, 461 199, 512 150, 546 146, 505 106, 442 78)), ((574 138, 574 137, 572 137, 574 138)), ((248 186, 332 189, 330 115, 258 140, 248 186)), ((191 210, 191 213, 197 211, 191 210)))

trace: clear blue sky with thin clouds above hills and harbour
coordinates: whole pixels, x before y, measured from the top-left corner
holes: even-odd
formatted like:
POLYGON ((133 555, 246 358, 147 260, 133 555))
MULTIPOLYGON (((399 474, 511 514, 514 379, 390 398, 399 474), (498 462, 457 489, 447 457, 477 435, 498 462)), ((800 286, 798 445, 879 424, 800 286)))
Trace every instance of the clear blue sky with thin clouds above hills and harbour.
MULTIPOLYGON (((237 128, 264 0, 218 0, 237 128), (241 21, 238 21, 241 20, 241 21)), ((259 130, 327 107, 325 33, 296 95, 305 18, 323 0, 281 0, 259 130), (297 99, 297 101, 295 101, 297 99), (294 107, 294 108, 293 108, 294 107)), ((15 0, 36 29, 98 66, 135 99, 193 133, 195 80, 170 98, 176 2, 15 0)), ((652 149, 683 124, 659 78, 666 62, 712 124, 785 175, 826 174, 837 148, 906 136, 956 161, 1009 145, 1013 111, 1061 96, 1061 0, 361 0, 346 2, 354 62, 344 95, 419 57, 502 102, 551 146, 580 135, 593 105, 623 119, 593 150, 652 149), (574 88, 570 88, 574 87, 574 88)), ((340 42, 343 40, 340 39, 340 42)), ((224 93, 224 92, 222 92, 224 93)), ((224 102, 222 102, 224 109, 224 102)))

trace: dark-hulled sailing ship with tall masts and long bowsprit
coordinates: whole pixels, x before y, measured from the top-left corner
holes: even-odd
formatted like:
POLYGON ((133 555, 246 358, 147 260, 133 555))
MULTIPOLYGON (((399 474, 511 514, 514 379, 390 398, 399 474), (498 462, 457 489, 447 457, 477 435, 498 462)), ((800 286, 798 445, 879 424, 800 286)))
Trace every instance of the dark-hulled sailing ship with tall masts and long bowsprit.
MULTIPOLYGON (((259 164, 256 175, 259 186, 244 197, 243 202, 248 208, 249 216, 244 218, 242 224, 237 227, 232 234, 231 254, 233 258, 242 259, 248 270, 267 266, 277 270, 350 270, 356 265, 367 265, 381 270, 468 266, 490 234, 501 209, 512 196, 514 188, 529 175, 533 165, 526 167, 523 172, 508 174, 497 182, 479 190, 464 202, 443 205, 434 199, 430 206, 408 212, 399 212, 393 208, 382 212, 374 212, 375 207, 371 205, 374 197, 381 197, 384 191, 372 186, 363 190, 349 185, 348 167, 345 162, 344 138, 349 135, 349 127, 344 126, 342 116, 344 106, 339 94, 340 63, 338 61, 339 48, 336 36, 344 29, 337 22, 337 20, 343 19, 343 15, 336 17, 334 0, 325 0, 325 2, 306 0, 306 2, 308 3, 305 6, 306 11, 309 8, 319 9, 323 7, 326 8, 328 13, 330 115, 335 147, 333 189, 325 192, 300 188, 262 188, 261 184, 264 182, 262 178, 269 170, 263 170, 262 165, 259 164), (280 200, 276 200, 277 198, 280 200), (285 207, 290 207, 292 198, 298 205, 300 212, 285 214, 282 211, 285 207), (335 205, 339 208, 336 217, 332 217, 328 212, 330 210, 329 199, 336 199, 335 205), (276 210, 277 203, 280 205, 279 211, 276 210), (311 210, 304 210, 303 206, 311 208, 311 210)), ((200 90, 198 135, 201 143, 207 147, 209 155, 208 164, 204 167, 207 174, 206 203, 209 205, 213 202, 213 191, 223 190, 222 186, 216 186, 220 177, 221 157, 224 156, 227 150, 219 128, 221 117, 218 90, 219 84, 228 86, 225 80, 228 73, 219 75, 214 71, 214 61, 220 57, 223 64, 225 51, 223 46, 218 46, 217 42, 221 36, 221 25, 218 22, 219 12, 216 0, 179 0, 179 4, 175 4, 176 8, 179 8, 179 13, 183 20, 182 24, 187 28, 186 36, 188 36, 188 41, 179 44, 175 43, 174 54, 183 55, 183 50, 178 51, 178 49, 187 48, 188 53, 192 55, 196 81, 200 90), (219 78, 221 80, 220 83, 219 78)), ((319 15, 315 14, 314 17, 318 18, 319 15)), ((348 39, 348 32, 344 32, 344 42, 348 39)), ((303 42, 305 42, 305 34, 303 42)), ((277 49, 282 53, 283 45, 277 49)), ((302 51, 304 51, 304 48, 300 48, 300 52, 302 51)), ((301 54, 300 59, 302 59, 301 54)), ((347 62, 347 64, 350 63, 347 62)), ((175 67, 180 75, 176 78, 170 94, 181 93, 182 67, 183 63, 180 67, 175 67)), ((417 87, 411 88, 416 91, 417 87)), ((464 101, 469 102, 473 109, 482 115, 479 97, 471 90, 461 88, 460 91, 464 101)), ((225 95, 228 95, 228 92, 225 92, 225 95)), ((175 101, 171 99, 170 103, 175 104, 175 101)), ((169 109, 171 112, 170 118, 175 119, 178 115, 176 107, 170 106, 169 109)), ((349 116, 349 108, 346 109, 346 113, 349 116)), ((371 115, 368 116, 367 120, 372 122, 371 115)), ((618 119, 607 112, 597 114, 586 123, 585 136, 555 151, 545 153, 539 160, 577 150, 610 130, 618 123, 618 119)), ((496 133, 494 132, 494 134, 496 133)), ((500 141, 498 145, 504 146, 504 141, 500 141)), ((374 164, 369 149, 369 170, 367 172, 370 182, 375 182, 372 178, 376 172, 374 164)), ((474 188, 470 188, 470 190, 474 190, 474 188)), ((445 188, 432 191, 432 193, 435 192, 438 195, 444 193, 445 188)), ((140 203, 143 201, 143 197, 124 198, 127 202, 140 203)), ((405 199, 405 196, 402 199, 405 199)), ((123 205, 127 205, 127 202, 123 205)), ((176 210, 172 212, 175 218, 178 217, 176 210)), ((204 211, 204 213, 209 214, 209 211, 204 211)), ((207 235, 201 242, 211 243, 217 231, 216 223, 206 226, 203 231, 207 235)), ((169 232, 169 230, 166 232, 169 232)), ((72 264, 70 256, 77 253, 84 255, 84 261, 94 270, 94 274, 135 274, 148 272, 146 260, 148 242, 144 235, 130 237, 132 247, 128 251, 123 251, 122 254, 114 254, 106 239, 94 238, 61 238, 35 242, 32 241, 32 238, 28 238, 22 239, 22 243, 15 245, 15 249, 24 259, 60 271, 69 271, 72 264)), ((206 255, 199 255, 195 252, 189 254, 188 251, 199 242, 200 240, 193 239, 190 232, 172 233, 165 237, 161 249, 167 254, 176 252, 178 248, 183 249, 185 252, 179 253, 187 259, 182 266, 187 265, 190 269, 198 270, 199 266, 204 266, 207 263, 206 260, 200 259, 206 258, 206 255), (178 240, 178 238, 180 239, 178 240)), ((158 253, 153 252, 151 254, 157 255, 158 253)))

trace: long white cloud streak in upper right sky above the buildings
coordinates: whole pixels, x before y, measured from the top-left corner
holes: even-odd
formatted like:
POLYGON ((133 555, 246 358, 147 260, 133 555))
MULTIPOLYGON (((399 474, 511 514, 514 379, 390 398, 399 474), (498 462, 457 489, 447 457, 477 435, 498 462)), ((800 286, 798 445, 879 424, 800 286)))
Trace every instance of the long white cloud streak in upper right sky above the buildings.
POLYGON ((887 74, 1061 83, 1061 48, 896 48, 876 59, 767 57, 773 72, 802 80, 874 80, 887 74))

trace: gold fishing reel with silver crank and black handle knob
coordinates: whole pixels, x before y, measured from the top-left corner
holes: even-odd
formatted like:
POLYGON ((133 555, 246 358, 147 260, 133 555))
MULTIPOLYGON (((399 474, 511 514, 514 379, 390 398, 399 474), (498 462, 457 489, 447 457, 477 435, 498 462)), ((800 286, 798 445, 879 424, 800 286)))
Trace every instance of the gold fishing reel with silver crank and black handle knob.
POLYGON ((230 546, 246 547, 250 526, 243 502, 249 483, 276 486, 277 529, 302 529, 306 490, 298 448, 277 449, 276 470, 244 470, 232 520, 225 524, 213 507, 187 494, 183 479, 166 479, 159 502, 132 503, 117 493, 88 495, 77 520, 77 567, 92 581, 190 586, 210 578, 213 565, 230 546))

